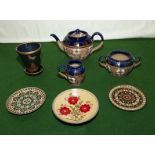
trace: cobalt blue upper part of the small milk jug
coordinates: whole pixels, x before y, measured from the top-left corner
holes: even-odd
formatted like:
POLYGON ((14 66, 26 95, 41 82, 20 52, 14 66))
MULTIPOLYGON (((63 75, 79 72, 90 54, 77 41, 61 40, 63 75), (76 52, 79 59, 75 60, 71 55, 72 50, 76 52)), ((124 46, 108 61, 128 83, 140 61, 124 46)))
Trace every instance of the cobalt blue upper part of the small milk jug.
POLYGON ((85 72, 85 68, 82 65, 82 62, 79 60, 70 60, 66 67, 66 73, 71 76, 81 75, 84 72, 85 72), (73 66, 73 65, 77 65, 77 66, 73 66))

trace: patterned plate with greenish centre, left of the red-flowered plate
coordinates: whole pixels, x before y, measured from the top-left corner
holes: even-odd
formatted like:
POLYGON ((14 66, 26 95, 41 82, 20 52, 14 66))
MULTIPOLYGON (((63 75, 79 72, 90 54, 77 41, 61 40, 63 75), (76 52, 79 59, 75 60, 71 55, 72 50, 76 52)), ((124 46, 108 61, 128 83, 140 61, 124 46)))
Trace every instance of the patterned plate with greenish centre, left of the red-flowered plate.
POLYGON ((37 110, 46 99, 43 90, 26 87, 14 92, 6 101, 7 110, 13 114, 23 115, 37 110))

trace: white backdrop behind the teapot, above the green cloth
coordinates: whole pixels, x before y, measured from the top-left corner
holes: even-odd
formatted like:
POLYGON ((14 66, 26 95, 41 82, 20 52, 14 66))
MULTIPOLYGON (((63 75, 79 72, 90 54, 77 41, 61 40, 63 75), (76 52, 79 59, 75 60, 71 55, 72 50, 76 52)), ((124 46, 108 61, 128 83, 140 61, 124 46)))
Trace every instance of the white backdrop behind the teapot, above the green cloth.
POLYGON ((77 28, 105 39, 155 37, 155 20, 8 20, 0 21, 0 42, 55 41, 51 33, 62 40, 77 28))

